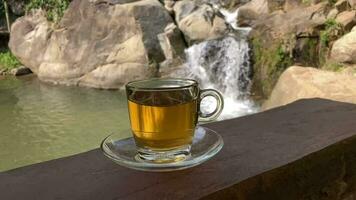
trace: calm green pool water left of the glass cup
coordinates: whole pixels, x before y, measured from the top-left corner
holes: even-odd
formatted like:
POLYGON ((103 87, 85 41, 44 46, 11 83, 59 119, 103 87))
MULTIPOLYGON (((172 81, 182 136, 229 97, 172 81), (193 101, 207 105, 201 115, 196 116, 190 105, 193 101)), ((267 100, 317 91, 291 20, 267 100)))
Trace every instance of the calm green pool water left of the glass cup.
POLYGON ((123 91, 0 76, 0 171, 98 148, 128 128, 123 91))

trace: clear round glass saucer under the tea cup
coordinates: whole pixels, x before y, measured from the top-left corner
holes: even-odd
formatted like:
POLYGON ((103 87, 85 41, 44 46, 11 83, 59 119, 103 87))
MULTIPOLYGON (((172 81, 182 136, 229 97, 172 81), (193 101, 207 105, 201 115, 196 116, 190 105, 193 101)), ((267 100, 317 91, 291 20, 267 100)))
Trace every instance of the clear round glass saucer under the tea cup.
POLYGON ((178 162, 152 163, 136 158, 136 145, 132 137, 121 140, 119 138, 120 135, 114 133, 103 140, 101 149, 104 155, 121 166, 142 171, 174 171, 194 167, 213 157, 224 145, 218 133, 198 126, 195 129, 189 157, 178 162))

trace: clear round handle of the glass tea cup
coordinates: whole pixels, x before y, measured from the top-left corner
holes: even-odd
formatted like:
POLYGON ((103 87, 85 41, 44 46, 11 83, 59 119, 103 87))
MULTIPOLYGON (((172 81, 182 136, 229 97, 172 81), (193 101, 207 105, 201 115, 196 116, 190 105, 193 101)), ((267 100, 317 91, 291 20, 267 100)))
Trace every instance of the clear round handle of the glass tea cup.
MULTIPOLYGON (((199 111, 199 121, 200 122, 209 122, 209 121, 215 120, 216 118, 219 117, 219 115, 221 114, 221 112, 224 108, 223 96, 220 94, 220 92, 213 90, 213 89, 201 90, 199 101, 201 102, 205 97, 209 97, 209 96, 214 97, 216 99, 216 102, 217 102, 216 108, 213 112, 207 113, 207 114, 199 111)), ((199 106, 200 106, 200 103, 199 103, 199 106)))

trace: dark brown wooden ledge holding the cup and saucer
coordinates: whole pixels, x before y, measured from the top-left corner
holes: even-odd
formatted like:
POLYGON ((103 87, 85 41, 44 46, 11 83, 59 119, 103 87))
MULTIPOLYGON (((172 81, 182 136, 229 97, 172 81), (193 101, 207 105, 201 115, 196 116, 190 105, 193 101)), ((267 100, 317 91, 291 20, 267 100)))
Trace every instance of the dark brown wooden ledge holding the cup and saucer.
POLYGON ((140 172, 95 149, 0 173, 0 199, 313 199, 335 187, 338 198, 356 191, 354 104, 301 100, 206 126, 225 146, 200 166, 140 172))

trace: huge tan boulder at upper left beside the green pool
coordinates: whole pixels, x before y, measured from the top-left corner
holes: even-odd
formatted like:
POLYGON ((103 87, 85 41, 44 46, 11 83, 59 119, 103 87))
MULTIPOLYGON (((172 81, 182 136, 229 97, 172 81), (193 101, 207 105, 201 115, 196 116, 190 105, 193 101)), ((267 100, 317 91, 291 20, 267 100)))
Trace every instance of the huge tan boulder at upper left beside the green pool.
POLYGON ((183 55, 184 41, 157 0, 74 0, 58 28, 42 12, 12 25, 9 46, 39 79, 119 88, 183 55), (154 14, 152 14, 154 13, 154 14))

